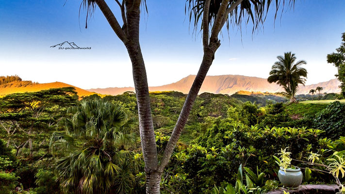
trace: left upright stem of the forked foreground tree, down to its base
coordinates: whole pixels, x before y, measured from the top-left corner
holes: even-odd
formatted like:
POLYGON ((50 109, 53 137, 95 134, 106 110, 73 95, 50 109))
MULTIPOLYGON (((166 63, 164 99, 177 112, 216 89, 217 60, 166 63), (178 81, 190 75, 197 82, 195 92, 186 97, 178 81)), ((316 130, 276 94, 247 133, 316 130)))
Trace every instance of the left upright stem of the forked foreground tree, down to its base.
POLYGON ((131 58, 135 94, 138 103, 141 147, 145 162, 147 194, 160 193, 161 173, 158 172, 156 138, 153 129, 148 79, 139 43, 140 1, 126 4, 128 41, 125 43, 131 58))

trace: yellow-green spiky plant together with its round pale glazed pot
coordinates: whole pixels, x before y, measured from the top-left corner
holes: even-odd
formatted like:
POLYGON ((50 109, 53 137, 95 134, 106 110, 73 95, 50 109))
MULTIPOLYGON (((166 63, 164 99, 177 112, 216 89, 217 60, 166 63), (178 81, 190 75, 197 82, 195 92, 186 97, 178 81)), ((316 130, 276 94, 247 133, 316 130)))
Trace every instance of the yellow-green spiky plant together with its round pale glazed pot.
POLYGON ((292 159, 290 158, 291 152, 287 152, 286 148, 281 149, 278 153, 279 158, 273 156, 280 166, 278 171, 278 178, 282 185, 290 188, 297 188, 303 179, 301 169, 291 165, 292 159))

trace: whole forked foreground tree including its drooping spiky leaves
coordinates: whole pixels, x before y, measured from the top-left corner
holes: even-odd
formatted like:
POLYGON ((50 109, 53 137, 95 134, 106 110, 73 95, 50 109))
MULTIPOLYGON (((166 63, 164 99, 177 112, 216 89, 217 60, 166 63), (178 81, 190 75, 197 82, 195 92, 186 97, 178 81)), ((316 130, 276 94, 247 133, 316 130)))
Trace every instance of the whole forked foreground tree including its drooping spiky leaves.
POLYGON ((160 193, 160 180, 165 166, 168 164, 174 147, 180 138, 193 103, 200 90, 206 74, 213 63, 214 54, 220 46, 219 33, 224 26, 241 27, 249 22, 253 24, 253 32, 266 19, 269 8, 275 4, 275 16, 284 5, 292 7, 294 0, 187 0, 186 12, 196 31, 202 31, 203 58, 197 76, 185 99, 179 119, 173 129, 164 154, 158 161, 157 147, 148 94, 148 81, 145 63, 139 42, 139 22, 141 8, 148 11, 146 0, 115 0, 121 13, 122 26, 105 0, 83 0, 82 6, 87 15, 95 11, 96 6, 106 17, 117 37, 123 42, 131 59, 135 94, 139 114, 139 131, 145 161, 147 178, 146 192, 160 193), (199 26, 199 24, 201 25, 199 26))

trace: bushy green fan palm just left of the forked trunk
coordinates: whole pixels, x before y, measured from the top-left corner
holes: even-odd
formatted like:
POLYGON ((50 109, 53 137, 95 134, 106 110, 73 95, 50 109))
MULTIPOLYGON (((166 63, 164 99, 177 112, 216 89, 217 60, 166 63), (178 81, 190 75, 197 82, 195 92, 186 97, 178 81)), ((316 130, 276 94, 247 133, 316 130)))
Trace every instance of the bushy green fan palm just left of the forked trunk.
MULTIPOLYGON (((82 101, 70 107, 69 118, 59 124, 50 147, 56 170, 66 193, 126 194, 134 187, 141 157, 126 149, 134 140, 131 121, 121 107, 100 100, 82 101)), ((143 170, 143 169, 142 169, 143 170)))

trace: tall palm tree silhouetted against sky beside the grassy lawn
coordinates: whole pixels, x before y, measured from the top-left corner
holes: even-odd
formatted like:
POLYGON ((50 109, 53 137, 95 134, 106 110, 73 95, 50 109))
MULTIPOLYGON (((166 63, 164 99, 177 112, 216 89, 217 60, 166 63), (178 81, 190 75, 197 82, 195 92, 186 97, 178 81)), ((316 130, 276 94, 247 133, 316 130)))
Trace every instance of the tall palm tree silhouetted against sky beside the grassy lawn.
POLYGON ((296 62, 296 56, 291 52, 285 52, 284 56, 278 56, 277 58, 279 61, 272 66, 267 81, 278 83, 285 90, 285 92, 279 94, 290 98, 290 102, 295 102, 298 84, 304 85, 308 73, 301 66, 307 63, 303 60, 296 62))

